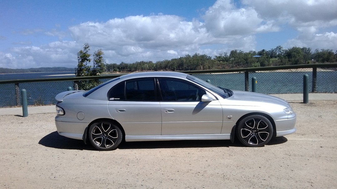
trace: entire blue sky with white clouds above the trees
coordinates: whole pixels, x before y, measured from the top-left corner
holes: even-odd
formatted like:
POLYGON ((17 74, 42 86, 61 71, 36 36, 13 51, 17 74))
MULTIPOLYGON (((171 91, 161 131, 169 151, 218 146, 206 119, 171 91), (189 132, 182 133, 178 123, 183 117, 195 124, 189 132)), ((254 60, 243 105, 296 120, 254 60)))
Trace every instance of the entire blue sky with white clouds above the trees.
POLYGON ((337 0, 1 0, 0 67, 106 63, 308 47, 337 50, 337 0))

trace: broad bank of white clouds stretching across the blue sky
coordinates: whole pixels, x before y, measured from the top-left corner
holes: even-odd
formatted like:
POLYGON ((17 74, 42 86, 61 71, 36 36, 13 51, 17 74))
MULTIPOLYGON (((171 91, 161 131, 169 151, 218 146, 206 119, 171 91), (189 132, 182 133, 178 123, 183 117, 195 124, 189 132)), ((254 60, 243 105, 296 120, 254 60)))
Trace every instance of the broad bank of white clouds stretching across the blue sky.
MULTIPOLYGON (((277 31, 284 37, 287 27, 297 31, 297 36, 275 46, 334 49, 337 32, 327 30, 337 26, 334 4, 335 0, 242 0, 238 7, 234 1, 218 0, 192 21, 178 15, 151 14, 88 21, 67 31, 62 31, 60 24, 50 30, 24 29, 14 34, 41 34, 54 42, 35 45, 20 38, 22 42, 16 44, 25 46, 0 52, 0 67, 74 67, 84 43, 91 46, 90 53, 102 49, 107 63, 156 62, 194 53, 214 56, 234 49, 250 51, 256 50, 255 34, 277 31), (71 38, 63 41, 66 37, 71 38)), ((0 36, 0 40, 5 39, 0 36)))

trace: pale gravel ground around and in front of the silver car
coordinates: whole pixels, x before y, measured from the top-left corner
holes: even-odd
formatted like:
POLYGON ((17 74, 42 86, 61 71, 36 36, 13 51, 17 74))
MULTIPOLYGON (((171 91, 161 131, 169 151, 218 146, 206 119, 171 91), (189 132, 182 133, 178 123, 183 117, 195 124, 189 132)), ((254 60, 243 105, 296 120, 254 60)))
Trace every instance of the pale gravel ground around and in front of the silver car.
POLYGON ((336 188, 337 101, 292 101, 297 132, 262 148, 229 140, 124 142, 96 151, 55 114, 0 116, 0 188, 336 188))

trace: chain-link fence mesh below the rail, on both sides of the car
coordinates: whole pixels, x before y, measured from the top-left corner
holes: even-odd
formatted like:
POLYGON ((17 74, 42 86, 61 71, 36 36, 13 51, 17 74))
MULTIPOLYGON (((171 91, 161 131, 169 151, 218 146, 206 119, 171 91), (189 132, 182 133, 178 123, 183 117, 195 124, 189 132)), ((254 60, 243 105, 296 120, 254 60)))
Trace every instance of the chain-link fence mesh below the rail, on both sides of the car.
MULTIPOLYGON (((303 75, 309 76, 309 91, 319 93, 335 93, 337 92, 337 67, 317 68, 316 73, 313 68, 298 68, 286 70, 264 70, 264 71, 237 71, 219 73, 202 73, 192 74, 204 81, 215 86, 227 88, 231 90, 248 89, 251 91, 251 78, 256 77, 256 92, 265 94, 281 94, 281 93, 302 93, 303 92, 303 75), (247 78, 248 74, 248 78, 247 78), (316 80, 316 87, 313 90, 312 82, 316 80), (247 88, 247 80, 249 88, 247 88)), ((209 72, 209 71, 208 71, 209 72)), ((113 78, 115 76, 111 76, 113 78)), ((100 79, 101 82, 110 80, 111 78, 100 79)), ((70 80, 70 79, 69 79, 70 80)), ((4 83, 4 82, 2 82, 4 83)), ((16 106, 21 100, 16 97, 15 82, 2 84, 0 82, 0 107, 16 106)), ((55 96, 58 93, 67 91, 68 87, 73 87, 74 81, 53 81, 53 82, 31 82, 22 81, 19 85, 19 92, 22 89, 27 91, 28 105, 55 104, 55 96)), ((19 94, 21 98, 21 94, 19 94)))

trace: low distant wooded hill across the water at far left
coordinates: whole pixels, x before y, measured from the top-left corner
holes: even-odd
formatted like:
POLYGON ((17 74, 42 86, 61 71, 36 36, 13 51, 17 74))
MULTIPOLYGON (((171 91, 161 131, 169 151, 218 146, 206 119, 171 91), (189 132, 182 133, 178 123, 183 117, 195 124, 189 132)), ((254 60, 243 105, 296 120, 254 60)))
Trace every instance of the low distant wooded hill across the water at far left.
POLYGON ((75 68, 66 67, 41 67, 27 69, 0 68, 0 73, 30 73, 30 72, 56 72, 56 71, 75 71, 75 68))

